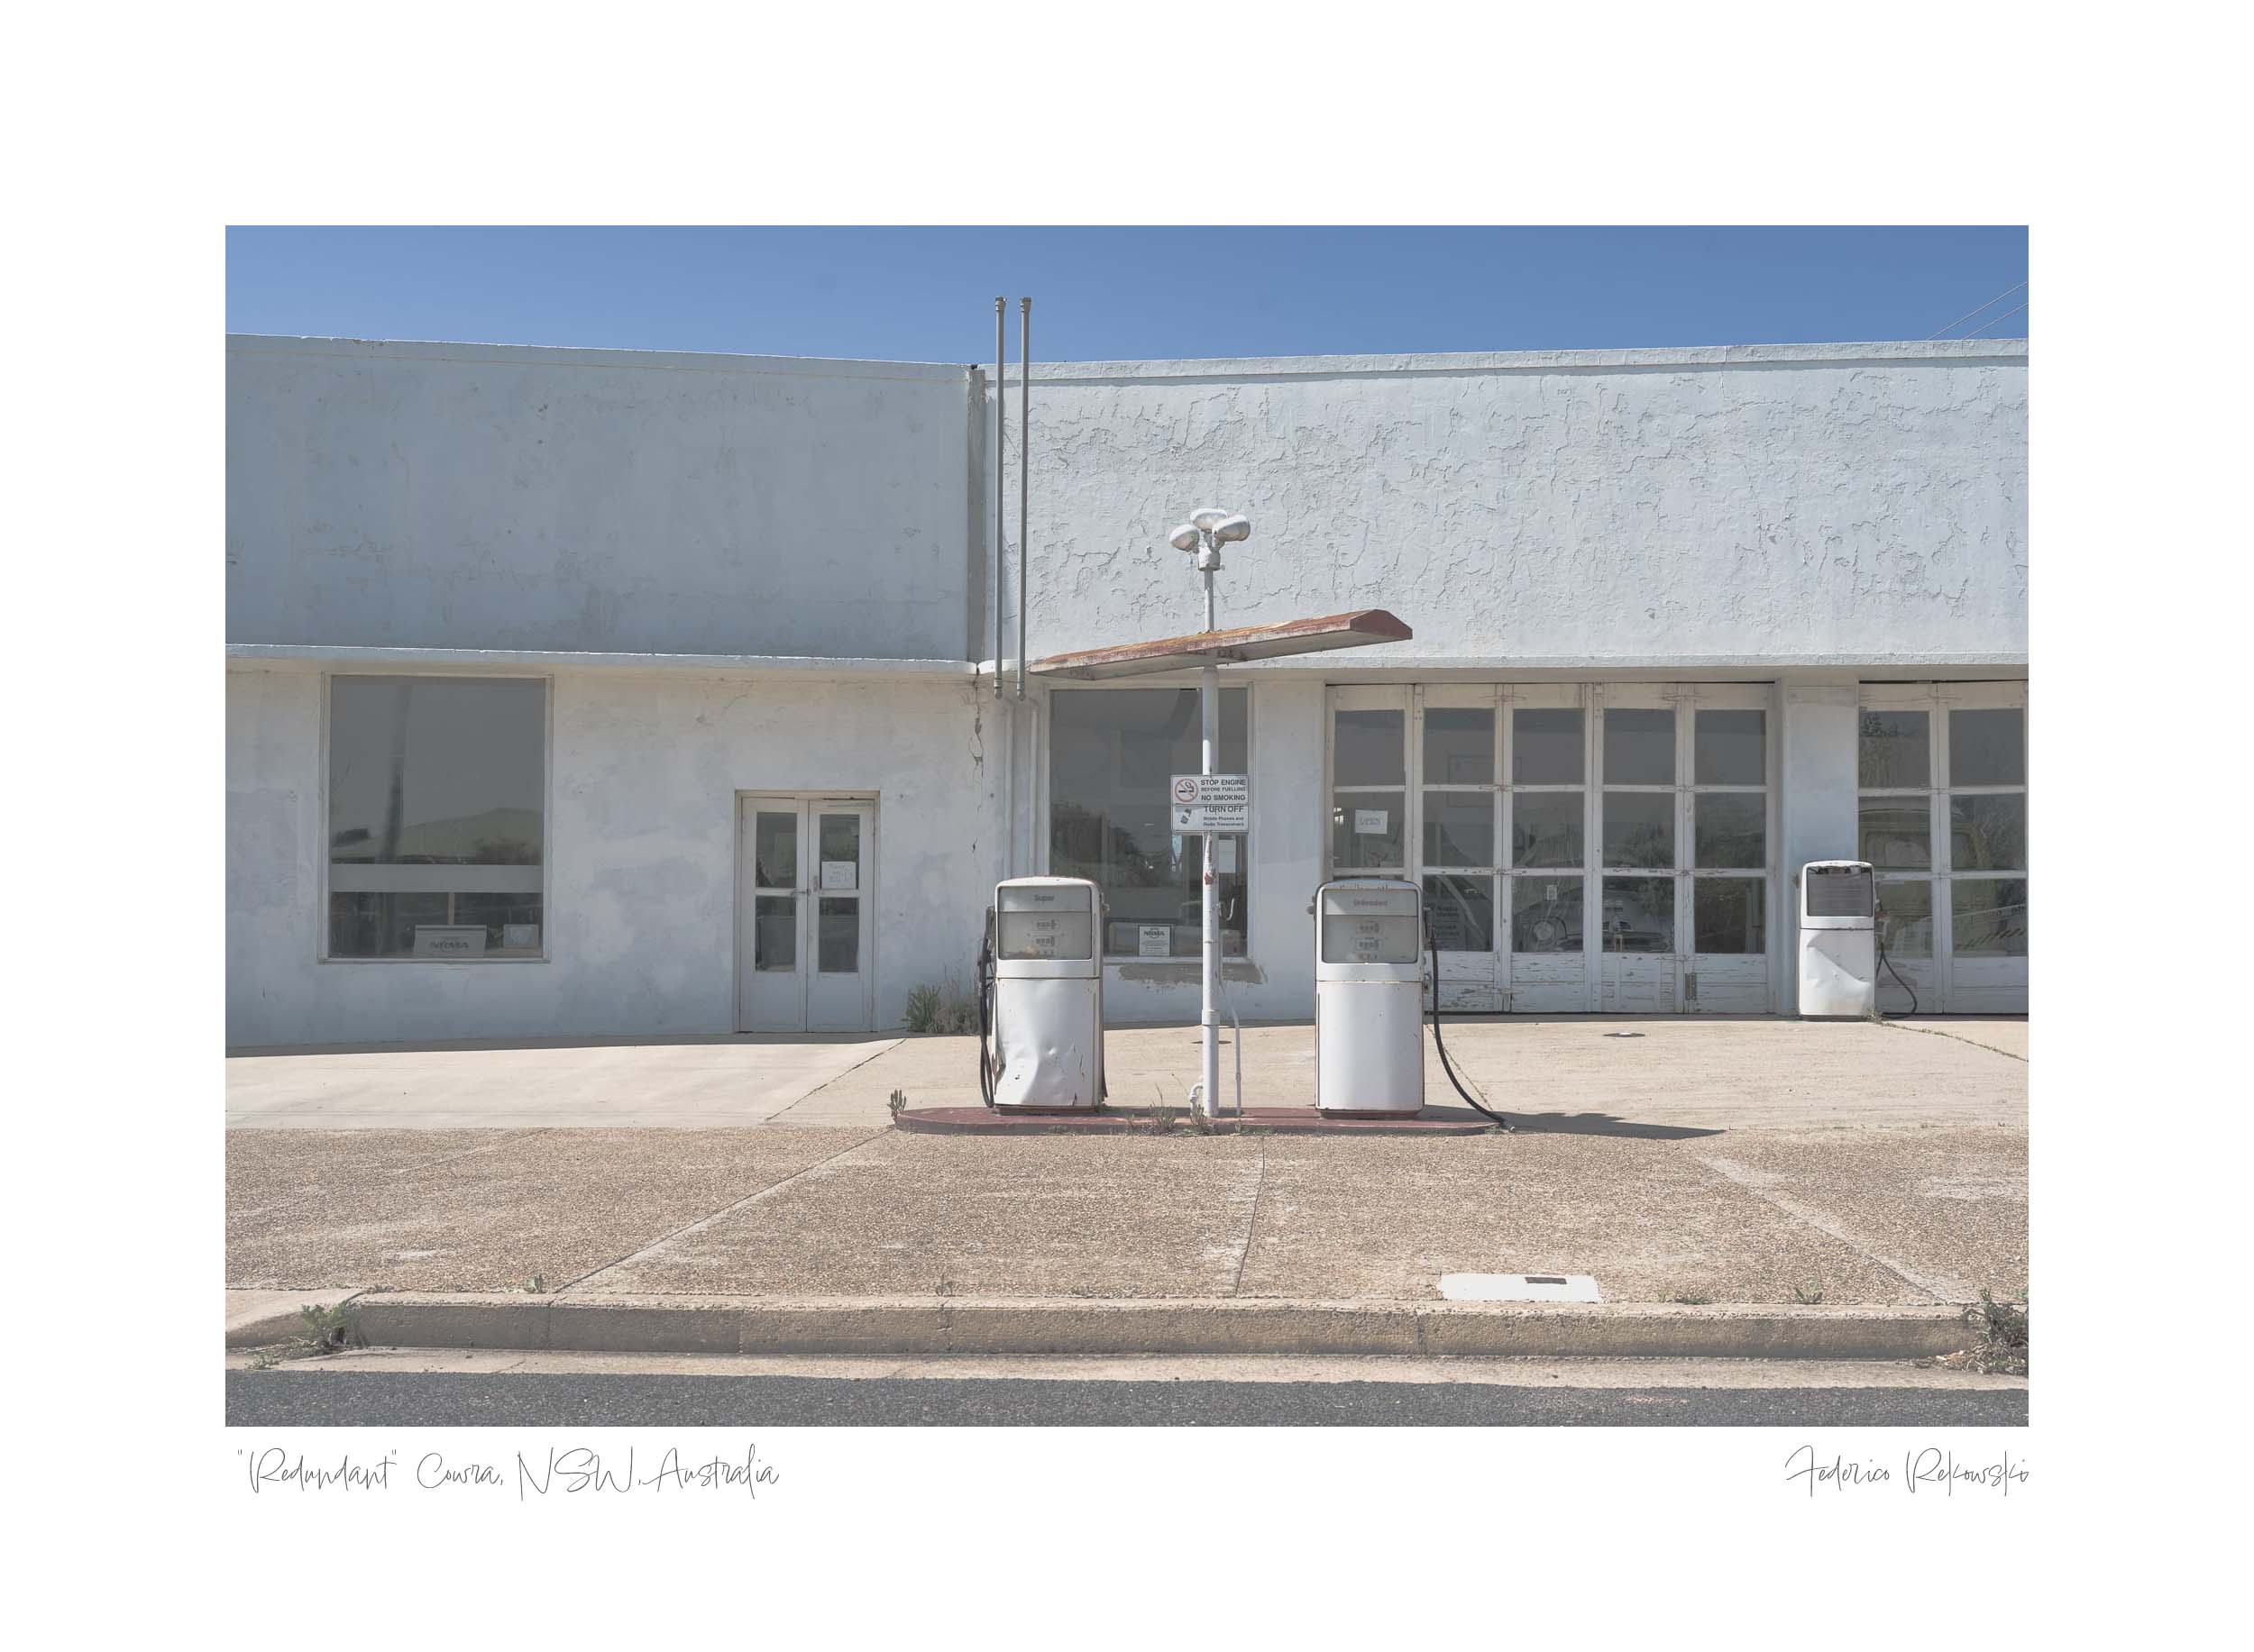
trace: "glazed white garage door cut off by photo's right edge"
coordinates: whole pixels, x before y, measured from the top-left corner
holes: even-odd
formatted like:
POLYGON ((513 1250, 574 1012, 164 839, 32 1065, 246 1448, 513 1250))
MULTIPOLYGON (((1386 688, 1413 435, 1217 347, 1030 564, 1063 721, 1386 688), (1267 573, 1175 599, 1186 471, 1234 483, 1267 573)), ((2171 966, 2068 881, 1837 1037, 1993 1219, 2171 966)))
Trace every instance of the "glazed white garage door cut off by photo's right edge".
POLYGON ((1864 683, 1878 1007, 2026 1014, 2026 685, 1864 683))

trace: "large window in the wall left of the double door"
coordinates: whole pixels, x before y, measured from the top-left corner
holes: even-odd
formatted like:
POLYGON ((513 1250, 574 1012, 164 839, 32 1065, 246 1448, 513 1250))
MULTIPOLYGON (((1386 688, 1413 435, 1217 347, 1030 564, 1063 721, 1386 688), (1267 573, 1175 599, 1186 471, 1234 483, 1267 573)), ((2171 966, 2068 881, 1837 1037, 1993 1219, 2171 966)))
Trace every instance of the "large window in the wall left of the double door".
POLYGON ((548 683, 329 678, 329 958, 541 958, 548 683))

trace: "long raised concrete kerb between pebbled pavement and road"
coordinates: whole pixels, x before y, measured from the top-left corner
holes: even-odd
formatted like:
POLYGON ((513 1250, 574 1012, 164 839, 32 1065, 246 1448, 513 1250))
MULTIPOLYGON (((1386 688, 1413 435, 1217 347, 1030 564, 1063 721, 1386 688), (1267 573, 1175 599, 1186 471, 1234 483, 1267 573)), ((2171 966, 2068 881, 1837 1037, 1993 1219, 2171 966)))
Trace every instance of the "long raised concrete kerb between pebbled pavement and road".
POLYGON ((1956 1352, 1972 1341, 1961 1309, 1945 1305, 376 1294, 356 1298, 354 1309, 361 1334, 376 1348, 642 1355, 1918 1359, 1956 1352))

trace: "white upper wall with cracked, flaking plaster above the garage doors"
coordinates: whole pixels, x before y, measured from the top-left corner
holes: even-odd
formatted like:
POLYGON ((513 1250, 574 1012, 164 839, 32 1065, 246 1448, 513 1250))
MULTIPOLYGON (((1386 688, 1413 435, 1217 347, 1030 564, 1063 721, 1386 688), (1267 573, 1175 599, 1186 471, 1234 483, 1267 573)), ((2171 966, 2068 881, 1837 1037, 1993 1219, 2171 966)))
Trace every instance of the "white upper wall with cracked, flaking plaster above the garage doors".
POLYGON ((1416 629, 1341 669, 2026 656, 2024 343, 1066 363, 1032 410, 1037 658, 1195 631, 1199 505, 1255 525, 1222 624, 1416 629))

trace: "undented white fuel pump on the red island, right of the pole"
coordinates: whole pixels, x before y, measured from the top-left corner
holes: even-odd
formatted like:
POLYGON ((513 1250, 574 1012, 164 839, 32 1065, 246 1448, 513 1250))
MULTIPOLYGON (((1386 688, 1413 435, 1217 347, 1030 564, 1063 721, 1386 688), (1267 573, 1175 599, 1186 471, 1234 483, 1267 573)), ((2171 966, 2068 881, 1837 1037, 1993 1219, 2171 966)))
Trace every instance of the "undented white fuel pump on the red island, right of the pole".
POLYGON ((1425 1107, 1425 913, 1416 883, 1341 877, 1314 897, 1314 1107, 1425 1107))

